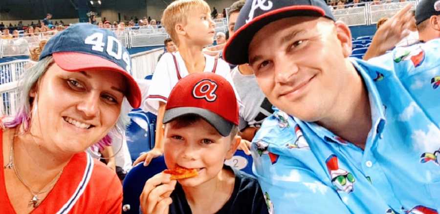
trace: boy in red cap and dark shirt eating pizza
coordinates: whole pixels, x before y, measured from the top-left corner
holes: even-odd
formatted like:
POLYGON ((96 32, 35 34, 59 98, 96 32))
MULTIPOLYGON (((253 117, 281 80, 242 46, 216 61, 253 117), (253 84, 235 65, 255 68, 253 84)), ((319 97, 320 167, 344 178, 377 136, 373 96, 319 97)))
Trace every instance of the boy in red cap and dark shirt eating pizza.
POLYGON ((224 165, 240 144, 239 105, 232 85, 213 73, 182 78, 163 117, 164 157, 169 169, 196 169, 195 177, 171 180, 159 173, 140 196, 144 214, 264 214, 258 181, 224 165))

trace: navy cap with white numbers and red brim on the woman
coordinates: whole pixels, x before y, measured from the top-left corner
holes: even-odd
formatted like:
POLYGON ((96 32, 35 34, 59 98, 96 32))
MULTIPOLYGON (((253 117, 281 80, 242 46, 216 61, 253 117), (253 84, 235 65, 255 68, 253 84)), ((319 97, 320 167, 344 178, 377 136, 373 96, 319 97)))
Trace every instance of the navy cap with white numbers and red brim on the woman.
POLYGON ((131 58, 113 32, 89 23, 78 23, 50 38, 40 60, 52 56, 66 71, 110 70, 122 74, 128 83, 125 92, 130 105, 138 108, 141 92, 131 73, 131 58))

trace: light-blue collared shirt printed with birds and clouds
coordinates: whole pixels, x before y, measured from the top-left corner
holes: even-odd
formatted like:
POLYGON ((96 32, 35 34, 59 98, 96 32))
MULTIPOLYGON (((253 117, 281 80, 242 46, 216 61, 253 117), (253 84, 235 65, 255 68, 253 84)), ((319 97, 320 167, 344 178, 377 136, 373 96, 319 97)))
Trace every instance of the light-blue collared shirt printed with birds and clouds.
POLYGON ((351 60, 371 104, 365 149, 276 110, 252 143, 267 207, 275 214, 437 214, 440 39, 396 48, 374 64, 351 60))

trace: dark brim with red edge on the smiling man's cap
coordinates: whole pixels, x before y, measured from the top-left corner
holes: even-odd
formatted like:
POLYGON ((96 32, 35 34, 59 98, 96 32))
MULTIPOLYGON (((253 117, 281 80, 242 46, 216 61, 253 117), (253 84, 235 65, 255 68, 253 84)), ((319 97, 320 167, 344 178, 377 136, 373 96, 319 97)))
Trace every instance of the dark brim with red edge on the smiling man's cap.
POLYGON ((234 33, 223 49, 223 58, 234 65, 248 63, 249 44, 258 31, 273 21, 298 16, 326 17, 322 8, 311 5, 288 6, 264 13, 252 19, 234 33))

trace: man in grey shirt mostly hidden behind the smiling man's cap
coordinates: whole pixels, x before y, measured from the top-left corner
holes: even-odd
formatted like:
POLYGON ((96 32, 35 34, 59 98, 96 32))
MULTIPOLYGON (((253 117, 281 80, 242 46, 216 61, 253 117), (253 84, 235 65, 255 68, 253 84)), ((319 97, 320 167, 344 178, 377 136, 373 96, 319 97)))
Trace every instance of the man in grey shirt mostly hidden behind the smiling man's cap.
MULTIPOLYGON (((230 37, 234 36, 234 26, 244 2, 245 0, 238 0, 229 7, 230 37)), ((243 103, 240 108, 239 135, 242 139, 252 141, 263 120, 273 113, 272 104, 258 87, 252 68, 247 63, 232 69, 231 76, 243 103)))

